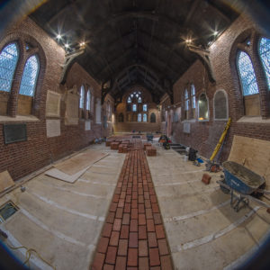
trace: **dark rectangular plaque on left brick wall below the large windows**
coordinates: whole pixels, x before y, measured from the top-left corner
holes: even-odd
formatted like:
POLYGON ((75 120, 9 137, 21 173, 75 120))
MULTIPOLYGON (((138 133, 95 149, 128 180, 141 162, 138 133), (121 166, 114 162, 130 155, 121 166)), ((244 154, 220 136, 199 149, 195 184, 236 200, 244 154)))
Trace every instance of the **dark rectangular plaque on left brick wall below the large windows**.
POLYGON ((4 143, 27 140, 26 124, 4 124, 4 143))

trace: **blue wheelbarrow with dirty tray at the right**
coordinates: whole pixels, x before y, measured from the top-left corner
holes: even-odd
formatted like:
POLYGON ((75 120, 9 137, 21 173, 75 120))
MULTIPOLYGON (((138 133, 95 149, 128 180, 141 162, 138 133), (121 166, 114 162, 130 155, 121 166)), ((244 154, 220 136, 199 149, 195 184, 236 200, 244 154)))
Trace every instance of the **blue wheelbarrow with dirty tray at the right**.
POLYGON ((258 199, 264 193, 270 194, 270 191, 265 190, 266 179, 263 176, 233 161, 225 161, 222 166, 225 178, 217 183, 223 193, 230 193, 230 206, 235 211, 239 211, 241 202, 245 206, 249 200, 270 208, 270 205, 258 199), (234 192, 239 193, 239 196, 234 192))

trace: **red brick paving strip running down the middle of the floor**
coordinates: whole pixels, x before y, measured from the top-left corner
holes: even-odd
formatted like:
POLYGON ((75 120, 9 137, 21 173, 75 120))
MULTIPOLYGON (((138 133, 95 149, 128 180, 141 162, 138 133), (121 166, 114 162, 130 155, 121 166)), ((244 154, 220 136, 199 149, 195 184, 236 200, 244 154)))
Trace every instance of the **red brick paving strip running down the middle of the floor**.
POLYGON ((173 269, 139 139, 124 160, 91 269, 173 269))

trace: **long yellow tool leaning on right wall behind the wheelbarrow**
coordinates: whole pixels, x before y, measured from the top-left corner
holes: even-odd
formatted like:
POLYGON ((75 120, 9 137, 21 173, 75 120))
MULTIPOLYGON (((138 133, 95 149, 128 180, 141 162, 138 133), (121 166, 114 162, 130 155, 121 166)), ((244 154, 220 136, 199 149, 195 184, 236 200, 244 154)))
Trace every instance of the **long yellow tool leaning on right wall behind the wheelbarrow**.
POLYGON ((220 164, 219 164, 218 161, 220 159, 220 154, 221 154, 222 148, 224 146, 225 139, 227 138, 230 123, 231 123, 231 119, 229 118, 229 120, 227 121, 227 124, 226 124, 226 126, 225 126, 225 128, 224 128, 224 130, 223 130, 223 132, 222 132, 222 134, 220 136, 220 140, 219 140, 218 144, 214 148, 210 159, 205 164, 207 171, 210 171, 212 173, 217 173, 217 172, 219 172, 221 170, 220 169, 220 164), (220 151, 220 154, 219 154, 219 157, 217 158, 217 162, 214 162, 214 158, 219 153, 219 151, 220 151))

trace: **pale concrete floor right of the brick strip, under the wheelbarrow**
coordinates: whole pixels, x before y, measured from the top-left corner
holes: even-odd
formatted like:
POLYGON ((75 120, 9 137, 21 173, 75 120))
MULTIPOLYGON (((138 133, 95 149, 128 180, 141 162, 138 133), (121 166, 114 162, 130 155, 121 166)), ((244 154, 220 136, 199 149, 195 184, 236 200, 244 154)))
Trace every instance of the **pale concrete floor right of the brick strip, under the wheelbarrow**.
MULTIPOLYGON (((148 157, 175 269, 233 269, 260 245, 270 229, 266 208, 250 203, 231 209, 219 174, 201 182, 204 166, 193 166, 174 150, 148 157)), ((268 185, 269 186, 269 185, 268 185)))

